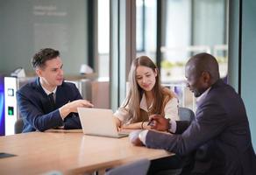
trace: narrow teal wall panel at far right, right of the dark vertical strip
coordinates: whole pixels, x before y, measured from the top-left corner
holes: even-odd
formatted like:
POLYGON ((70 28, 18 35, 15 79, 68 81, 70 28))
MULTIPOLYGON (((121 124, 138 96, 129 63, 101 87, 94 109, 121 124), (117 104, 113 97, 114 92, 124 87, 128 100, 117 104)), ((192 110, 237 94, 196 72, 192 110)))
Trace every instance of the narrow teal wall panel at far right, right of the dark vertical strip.
POLYGON ((256 1, 242 2, 241 95, 247 109, 252 143, 256 151, 256 1))

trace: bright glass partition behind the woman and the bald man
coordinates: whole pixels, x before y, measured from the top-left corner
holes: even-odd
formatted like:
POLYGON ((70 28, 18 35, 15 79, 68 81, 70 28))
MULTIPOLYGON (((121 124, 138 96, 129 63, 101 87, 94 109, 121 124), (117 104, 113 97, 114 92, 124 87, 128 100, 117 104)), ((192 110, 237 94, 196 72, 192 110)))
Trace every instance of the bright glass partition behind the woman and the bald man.
POLYGON ((221 78, 226 81, 228 6, 229 0, 137 0, 137 56, 144 54, 154 61, 160 60, 157 64, 161 81, 174 88, 181 106, 195 109, 195 99, 184 86, 184 66, 192 55, 213 54, 219 63, 221 78), (161 25, 156 26, 159 4, 161 25), (160 36, 157 29, 161 31, 160 36), (157 37, 161 39, 160 58, 156 58, 157 37))

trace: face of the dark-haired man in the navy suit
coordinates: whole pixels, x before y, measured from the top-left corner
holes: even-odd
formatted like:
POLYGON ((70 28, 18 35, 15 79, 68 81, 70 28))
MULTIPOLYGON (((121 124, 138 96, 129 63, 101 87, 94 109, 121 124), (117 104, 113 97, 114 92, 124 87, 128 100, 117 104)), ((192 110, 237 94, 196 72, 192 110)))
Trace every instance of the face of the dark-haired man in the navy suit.
POLYGON ((60 86, 63 81, 62 61, 60 57, 46 60, 43 68, 38 68, 37 73, 45 88, 56 88, 60 86))

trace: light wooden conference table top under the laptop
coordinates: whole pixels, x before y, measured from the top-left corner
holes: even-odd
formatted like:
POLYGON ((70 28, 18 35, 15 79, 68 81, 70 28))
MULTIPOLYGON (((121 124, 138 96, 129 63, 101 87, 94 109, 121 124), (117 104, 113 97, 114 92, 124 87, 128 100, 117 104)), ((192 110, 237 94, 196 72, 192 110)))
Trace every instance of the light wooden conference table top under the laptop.
POLYGON ((93 137, 82 130, 49 130, 0 137, 0 174, 83 174, 147 158, 171 156, 164 150, 134 146, 129 137, 93 137))

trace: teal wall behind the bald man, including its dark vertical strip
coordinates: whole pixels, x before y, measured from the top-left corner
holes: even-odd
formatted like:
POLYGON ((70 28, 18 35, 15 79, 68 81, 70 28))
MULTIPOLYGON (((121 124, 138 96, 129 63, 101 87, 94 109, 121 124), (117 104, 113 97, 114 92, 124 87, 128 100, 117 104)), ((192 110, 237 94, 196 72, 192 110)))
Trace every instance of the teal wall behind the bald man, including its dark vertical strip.
POLYGON ((230 1, 229 83, 241 95, 256 151, 256 1, 230 1), (242 2, 242 3, 241 3, 242 2))

